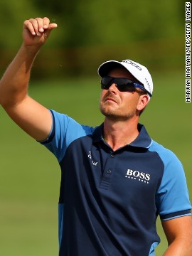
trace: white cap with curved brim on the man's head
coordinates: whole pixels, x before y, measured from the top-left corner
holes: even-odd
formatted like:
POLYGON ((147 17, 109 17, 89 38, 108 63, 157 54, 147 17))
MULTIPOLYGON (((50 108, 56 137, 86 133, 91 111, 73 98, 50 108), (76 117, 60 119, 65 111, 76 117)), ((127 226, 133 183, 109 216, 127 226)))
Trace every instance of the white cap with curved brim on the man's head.
POLYGON ((139 82, 144 85, 144 88, 147 92, 149 92, 149 96, 152 95, 153 92, 153 80, 151 75, 144 65, 141 65, 133 60, 108 60, 105 63, 102 63, 98 68, 98 74, 103 78, 108 75, 110 70, 114 68, 126 68, 139 82))

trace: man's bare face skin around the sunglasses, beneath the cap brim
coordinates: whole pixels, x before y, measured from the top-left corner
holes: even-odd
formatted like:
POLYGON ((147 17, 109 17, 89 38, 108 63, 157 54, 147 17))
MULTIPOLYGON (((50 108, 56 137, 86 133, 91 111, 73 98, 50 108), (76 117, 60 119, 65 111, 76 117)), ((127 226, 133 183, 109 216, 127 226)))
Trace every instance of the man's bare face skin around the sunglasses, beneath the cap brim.
MULTIPOLYGON (((108 74, 113 78, 128 78, 135 81, 136 79, 124 68, 115 68, 108 74)), ((140 97, 135 92, 119 92, 113 83, 108 90, 102 90, 100 96, 100 110, 105 117, 110 119, 130 119, 138 116, 140 97)))

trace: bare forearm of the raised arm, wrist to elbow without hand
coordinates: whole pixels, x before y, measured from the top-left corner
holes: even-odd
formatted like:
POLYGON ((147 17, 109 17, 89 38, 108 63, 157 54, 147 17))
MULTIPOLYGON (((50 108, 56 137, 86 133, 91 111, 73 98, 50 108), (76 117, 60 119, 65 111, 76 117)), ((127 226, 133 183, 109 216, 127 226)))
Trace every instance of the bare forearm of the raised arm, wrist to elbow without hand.
POLYGON ((27 95, 28 80, 38 48, 22 45, 0 81, 0 103, 3 107, 18 105, 27 95))

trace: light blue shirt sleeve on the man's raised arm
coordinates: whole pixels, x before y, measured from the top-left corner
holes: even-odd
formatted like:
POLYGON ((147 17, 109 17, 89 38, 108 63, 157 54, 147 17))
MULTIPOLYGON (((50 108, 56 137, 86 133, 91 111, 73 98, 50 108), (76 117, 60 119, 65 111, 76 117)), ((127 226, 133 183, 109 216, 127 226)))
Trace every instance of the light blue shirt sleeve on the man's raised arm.
POLYGON ((75 139, 92 134, 93 128, 81 125, 66 114, 60 114, 50 110, 53 118, 53 125, 48 138, 41 142, 44 144, 60 162, 63 159, 66 149, 75 139))

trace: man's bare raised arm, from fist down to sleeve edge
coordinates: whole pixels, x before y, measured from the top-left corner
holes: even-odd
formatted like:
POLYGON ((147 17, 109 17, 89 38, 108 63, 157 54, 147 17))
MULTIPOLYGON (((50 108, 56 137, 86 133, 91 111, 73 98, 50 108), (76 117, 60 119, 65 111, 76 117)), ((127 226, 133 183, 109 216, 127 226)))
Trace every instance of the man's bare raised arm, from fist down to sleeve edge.
POLYGON ((0 103, 11 119, 39 141, 48 136, 52 118, 49 110, 28 96, 33 61, 57 24, 48 18, 31 18, 23 23, 23 43, 0 81, 0 103))

